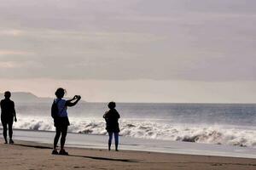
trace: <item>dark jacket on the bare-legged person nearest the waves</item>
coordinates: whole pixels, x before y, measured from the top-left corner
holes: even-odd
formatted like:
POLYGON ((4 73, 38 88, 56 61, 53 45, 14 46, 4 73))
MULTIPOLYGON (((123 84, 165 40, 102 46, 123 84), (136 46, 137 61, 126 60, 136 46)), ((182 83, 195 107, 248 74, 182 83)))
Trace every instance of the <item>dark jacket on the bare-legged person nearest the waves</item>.
POLYGON ((119 112, 115 109, 107 111, 103 118, 106 121, 106 129, 108 132, 119 133, 119 112))

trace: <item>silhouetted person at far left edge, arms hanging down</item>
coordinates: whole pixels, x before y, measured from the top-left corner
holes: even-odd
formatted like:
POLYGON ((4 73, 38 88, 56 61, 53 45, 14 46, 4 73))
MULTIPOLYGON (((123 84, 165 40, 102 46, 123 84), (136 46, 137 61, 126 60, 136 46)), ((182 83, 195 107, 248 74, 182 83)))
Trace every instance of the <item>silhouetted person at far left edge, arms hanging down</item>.
POLYGON ((8 144, 7 140, 7 125, 9 128, 9 144, 14 144, 13 140, 13 123, 14 117, 15 122, 17 122, 15 102, 10 99, 11 93, 9 91, 4 93, 4 98, 1 100, 1 122, 3 125, 3 138, 5 140, 4 144, 8 144))

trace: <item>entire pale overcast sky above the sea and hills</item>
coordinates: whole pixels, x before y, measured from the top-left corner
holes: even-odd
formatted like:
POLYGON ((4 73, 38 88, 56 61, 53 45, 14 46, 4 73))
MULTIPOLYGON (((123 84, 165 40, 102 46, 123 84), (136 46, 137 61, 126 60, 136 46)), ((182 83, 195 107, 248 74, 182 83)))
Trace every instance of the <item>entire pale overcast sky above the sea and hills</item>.
POLYGON ((254 0, 0 0, 0 91, 255 103, 254 0))

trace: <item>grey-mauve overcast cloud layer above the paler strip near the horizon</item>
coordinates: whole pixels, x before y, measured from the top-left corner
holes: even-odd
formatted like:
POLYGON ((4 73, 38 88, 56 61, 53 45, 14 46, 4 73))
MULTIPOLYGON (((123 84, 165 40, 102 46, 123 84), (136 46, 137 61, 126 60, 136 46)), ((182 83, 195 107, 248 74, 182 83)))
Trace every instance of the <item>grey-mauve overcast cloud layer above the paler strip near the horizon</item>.
POLYGON ((0 77, 255 80, 253 0, 6 0, 0 77))

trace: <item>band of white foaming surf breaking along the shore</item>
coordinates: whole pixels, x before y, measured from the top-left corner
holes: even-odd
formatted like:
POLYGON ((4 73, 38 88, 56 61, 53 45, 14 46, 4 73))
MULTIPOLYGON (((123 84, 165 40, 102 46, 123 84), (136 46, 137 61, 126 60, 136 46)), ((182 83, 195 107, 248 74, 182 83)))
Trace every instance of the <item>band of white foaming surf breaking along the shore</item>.
MULTIPOLYGON (((102 119, 70 119, 68 128, 72 133, 106 135, 105 122, 102 119)), ((162 122, 122 119, 119 122, 120 135, 143 138, 187 141, 207 144, 230 144, 256 148, 256 127, 228 127, 209 125, 167 124, 162 122)), ((15 128, 54 131, 50 117, 20 117, 15 128)))

